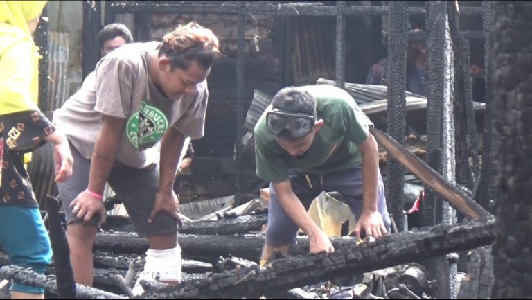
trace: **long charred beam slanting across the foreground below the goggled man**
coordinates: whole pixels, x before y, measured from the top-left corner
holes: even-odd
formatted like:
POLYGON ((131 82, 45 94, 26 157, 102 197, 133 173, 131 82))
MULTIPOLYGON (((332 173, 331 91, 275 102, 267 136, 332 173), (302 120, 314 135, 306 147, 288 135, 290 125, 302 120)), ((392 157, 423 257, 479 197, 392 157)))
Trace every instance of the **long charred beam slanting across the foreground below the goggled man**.
POLYGON ((338 247, 331 254, 306 254, 281 258, 267 268, 241 267, 212 274, 208 279, 184 283, 179 288, 152 285, 143 299, 257 298, 272 291, 289 290, 332 279, 369 272, 417 259, 489 245, 495 241, 495 222, 458 226, 438 225, 418 231, 384 236, 375 242, 338 247))

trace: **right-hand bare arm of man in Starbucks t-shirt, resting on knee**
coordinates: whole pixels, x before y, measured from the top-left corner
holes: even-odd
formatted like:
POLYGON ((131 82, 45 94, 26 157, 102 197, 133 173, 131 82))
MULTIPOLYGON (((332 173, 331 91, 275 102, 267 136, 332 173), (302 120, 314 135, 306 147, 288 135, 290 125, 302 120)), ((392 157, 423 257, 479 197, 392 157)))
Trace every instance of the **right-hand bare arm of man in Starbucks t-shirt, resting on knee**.
POLYGON ((159 163, 159 191, 155 195, 155 203, 148 218, 148 223, 159 211, 166 211, 172 215, 181 226, 181 218, 177 214, 179 198, 174 192, 174 181, 179 164, 179 155, 185 141, 185 136, 175 127, 170 127, 161 141, 161 161, 159 163))

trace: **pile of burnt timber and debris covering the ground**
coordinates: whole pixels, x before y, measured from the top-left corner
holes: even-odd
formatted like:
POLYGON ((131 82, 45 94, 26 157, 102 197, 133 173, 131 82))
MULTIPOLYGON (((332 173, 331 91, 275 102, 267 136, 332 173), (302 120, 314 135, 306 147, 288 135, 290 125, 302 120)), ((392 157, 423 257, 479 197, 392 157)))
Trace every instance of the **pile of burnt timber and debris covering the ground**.
POLYGON ((132 233, 129 218, 109 215, 98 233, 94 288, 88 288, 73 284, 69 264, 65 263, 68 252, 64 252, 66 243, 61 232, 64 223, 57 205, 55 212, 51 209, 53 202, 48 199, 45 216, 56 252, 53 265, 46 276, 38 275, 10 265, 6 254, 1 253, 3 299, 7 297, 9 279, 44 287, 48 299, 65 298, 69 293, 83 299, 433 299, 438 282, 419 263, 433 256, 490 245, 495 240, 493 221, 437 225, 379 240, 331 238, 336 249, 332 254, 308 254, 308 238, 299 236, 289 256, 276 253, 265 267, 260 267, 257 261, 264 242, 261 231, 267 215, 257 200, 236 209, 222 207, 197 220, 184 218, 179 233, 184 258, 181 285, 141 281, 145 292, 133 294, 132 285, 143 269, 148 242, 132 233), (61 231, 57 231, 57 225, 61 231), (63 248, 57 246, 60 244, 63 248))

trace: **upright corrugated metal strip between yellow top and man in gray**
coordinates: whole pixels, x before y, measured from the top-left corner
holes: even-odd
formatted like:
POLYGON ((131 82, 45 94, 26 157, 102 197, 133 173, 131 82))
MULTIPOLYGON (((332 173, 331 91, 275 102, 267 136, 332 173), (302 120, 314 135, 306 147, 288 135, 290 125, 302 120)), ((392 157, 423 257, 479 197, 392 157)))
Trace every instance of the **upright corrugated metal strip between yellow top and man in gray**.
POLYGON ((69 33, 48 33, 48 107, 60 108, 67 100, 69 33))

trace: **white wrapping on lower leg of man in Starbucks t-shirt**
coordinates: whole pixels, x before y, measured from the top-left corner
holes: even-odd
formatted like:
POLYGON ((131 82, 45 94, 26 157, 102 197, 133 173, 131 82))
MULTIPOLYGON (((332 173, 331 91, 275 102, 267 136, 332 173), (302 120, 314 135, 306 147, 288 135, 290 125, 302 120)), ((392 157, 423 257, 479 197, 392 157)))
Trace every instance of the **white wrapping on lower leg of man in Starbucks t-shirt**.
POLYGON ((181 282, 181 247, 167 250, 148 249, 144 272, 158 281, 181 282))

